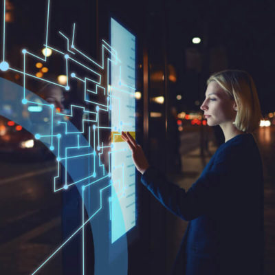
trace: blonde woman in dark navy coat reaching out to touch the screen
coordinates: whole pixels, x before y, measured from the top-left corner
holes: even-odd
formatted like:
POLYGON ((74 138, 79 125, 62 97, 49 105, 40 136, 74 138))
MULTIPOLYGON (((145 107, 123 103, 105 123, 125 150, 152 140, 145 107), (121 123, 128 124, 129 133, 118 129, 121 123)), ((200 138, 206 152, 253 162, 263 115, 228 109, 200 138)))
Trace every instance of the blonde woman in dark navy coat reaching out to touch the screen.
POLYGON ((213 74, 201 105, 209 126, 225 136, 201 176, 186 191, 149 166, 129 133, 142 183, 168 210, 190 221, 173 274, 263 274, 263 170, 252 132, 261 109, 251 76, 239 70, 213 74))

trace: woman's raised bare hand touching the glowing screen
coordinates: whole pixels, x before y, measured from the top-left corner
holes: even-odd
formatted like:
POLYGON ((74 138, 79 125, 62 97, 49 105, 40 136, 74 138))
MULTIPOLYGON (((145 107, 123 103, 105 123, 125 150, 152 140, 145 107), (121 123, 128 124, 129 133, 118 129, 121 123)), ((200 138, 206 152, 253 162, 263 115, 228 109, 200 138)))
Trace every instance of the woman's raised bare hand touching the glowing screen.
POLYGON ((128 143, 131 151, 132 151, 132 158, 133 162, 135 164, 135 167, 137 170, 140 171, 140 173, 144 174, 144 172, 149 167, 149 164, 147 162, 147 159, 144 155, 144 152, 142 150, 142 147, 135 142, 133 137, 129 134, 129 132, 123 132, 121 133, 122 140, 128 143))

